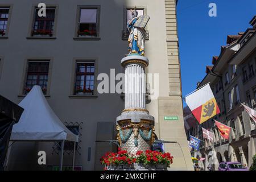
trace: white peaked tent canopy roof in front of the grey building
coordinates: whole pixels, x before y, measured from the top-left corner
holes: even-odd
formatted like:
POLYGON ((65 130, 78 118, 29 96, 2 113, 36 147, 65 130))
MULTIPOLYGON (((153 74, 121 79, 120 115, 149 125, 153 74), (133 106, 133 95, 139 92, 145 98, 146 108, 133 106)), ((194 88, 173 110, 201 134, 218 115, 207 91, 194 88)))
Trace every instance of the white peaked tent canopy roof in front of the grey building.
POLYGON ((78 136, 65 127, 49 106, 40 86, 35 85, 19 103, 24 111, 13 126, 10 140, 69 140, 78 142, 78 136))

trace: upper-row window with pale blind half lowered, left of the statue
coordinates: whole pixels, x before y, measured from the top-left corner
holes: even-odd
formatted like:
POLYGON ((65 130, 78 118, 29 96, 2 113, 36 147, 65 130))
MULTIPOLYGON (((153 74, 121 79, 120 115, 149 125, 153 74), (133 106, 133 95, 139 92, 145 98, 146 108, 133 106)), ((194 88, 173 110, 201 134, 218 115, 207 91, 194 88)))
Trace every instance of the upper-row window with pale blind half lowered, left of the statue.
POLYGON ((99 8, 79 9, 77 36, 79 38, 96 38, 99 35, 99 8))

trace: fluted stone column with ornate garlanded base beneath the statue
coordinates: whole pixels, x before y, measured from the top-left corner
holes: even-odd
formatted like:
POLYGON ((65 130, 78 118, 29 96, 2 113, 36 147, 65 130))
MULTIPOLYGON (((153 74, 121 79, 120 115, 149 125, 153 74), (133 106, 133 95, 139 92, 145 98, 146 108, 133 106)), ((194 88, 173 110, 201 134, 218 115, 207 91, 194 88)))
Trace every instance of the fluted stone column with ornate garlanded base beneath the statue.
POLYGON ((124 57, 125 109, 117 117, 118 140, 122 150, 135 154, 150 150, 154 142, 154 117, 146 110, 146 75, 148 59, 139 54, 124 57))

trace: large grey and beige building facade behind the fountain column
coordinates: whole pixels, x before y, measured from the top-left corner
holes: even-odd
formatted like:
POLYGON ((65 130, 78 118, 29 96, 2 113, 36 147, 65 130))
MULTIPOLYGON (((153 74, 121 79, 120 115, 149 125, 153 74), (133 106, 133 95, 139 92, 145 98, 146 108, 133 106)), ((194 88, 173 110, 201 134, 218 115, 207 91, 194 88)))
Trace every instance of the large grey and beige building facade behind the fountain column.
MULTIPOLYGON (((159 77, 160 89, 147 81, 146 109, 155 117, 157 138, 180 144, 164 144, 165 151, 175 157, 171 169, 192 169, 183 124, 177 2, 46 0, 46 17, 39 16, 38 3, 0 0, 0 94, 18 104, 33 85, 40 85, 53 111, 79 135, 75 165, 82 170, 102 169, 101 156, 117 147, 96 140, 117 137, 115 119, 124 101, 112 85, 119 82, 115 75, 123 72, 120 61, 128 49, 126 22, 131 17, 129 10, 136 6, 139 15, 150 15, 146 72, 159 77), (101 73, 109 77, 105 93, 97 89, 105 78, 101 73), (170 116, 177 120, 165 120, 170 116)), ((72 165, 69 148, 68 144, 64 147, 64 166, 72 165)), ((16 142, 11 146, 8 169, 58 165, 57 143, 16 142), (40 150, 47 154, 45 166, 37 163, 40 150)))

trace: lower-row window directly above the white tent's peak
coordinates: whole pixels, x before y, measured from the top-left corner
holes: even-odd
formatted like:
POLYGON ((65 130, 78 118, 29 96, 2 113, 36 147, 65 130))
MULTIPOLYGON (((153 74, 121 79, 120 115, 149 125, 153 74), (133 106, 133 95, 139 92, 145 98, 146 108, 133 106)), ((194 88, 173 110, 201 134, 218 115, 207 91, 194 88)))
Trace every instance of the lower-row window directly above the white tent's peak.
POLYGON ((28 61, 27 80, 24 94, 30 92, 34 85, 39 85, 44 94, 47 94, 49 61, 28 61))

